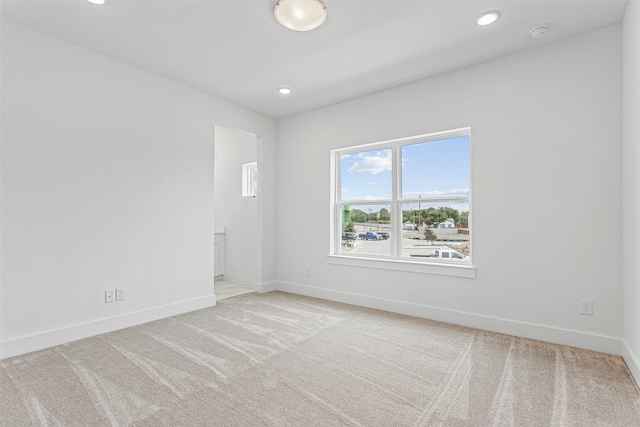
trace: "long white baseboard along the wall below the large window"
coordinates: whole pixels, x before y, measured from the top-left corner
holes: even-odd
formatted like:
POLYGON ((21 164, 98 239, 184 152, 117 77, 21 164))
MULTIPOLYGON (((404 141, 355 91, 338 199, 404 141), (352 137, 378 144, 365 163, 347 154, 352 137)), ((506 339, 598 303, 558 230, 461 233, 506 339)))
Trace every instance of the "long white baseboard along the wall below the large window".
POLYGON ((546 341, 554 344, 569 345, 572 347, 614 354, 617 356, 621 355, 621 339, 616 337, 590 334, 586 332, 466 313, 427 305, 413 304, 405 301, 396 301, 341 292, 332 289, 317 288, 297 283, 274 282, 273 285, 272 290, 344 302, 347 304, 391 311, 410 316, 423 317, 440 322, 546 341))

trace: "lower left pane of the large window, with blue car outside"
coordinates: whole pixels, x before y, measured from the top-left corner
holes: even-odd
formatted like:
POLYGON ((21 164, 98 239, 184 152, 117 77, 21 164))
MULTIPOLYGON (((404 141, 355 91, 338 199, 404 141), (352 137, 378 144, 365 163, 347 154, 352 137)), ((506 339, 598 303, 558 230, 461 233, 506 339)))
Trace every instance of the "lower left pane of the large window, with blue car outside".
POLYGON ((342 205, 340 252, 391 255, 391 205, 342 205))

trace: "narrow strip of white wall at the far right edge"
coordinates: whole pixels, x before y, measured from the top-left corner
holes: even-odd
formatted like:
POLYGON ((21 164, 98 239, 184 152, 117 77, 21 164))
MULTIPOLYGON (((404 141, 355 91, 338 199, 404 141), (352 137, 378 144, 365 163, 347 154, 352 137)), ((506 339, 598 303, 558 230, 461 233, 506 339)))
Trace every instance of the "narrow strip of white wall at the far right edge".
POLYGON ((623 317, 627 365, 640 384, 640 2, 623 22, 623 317))

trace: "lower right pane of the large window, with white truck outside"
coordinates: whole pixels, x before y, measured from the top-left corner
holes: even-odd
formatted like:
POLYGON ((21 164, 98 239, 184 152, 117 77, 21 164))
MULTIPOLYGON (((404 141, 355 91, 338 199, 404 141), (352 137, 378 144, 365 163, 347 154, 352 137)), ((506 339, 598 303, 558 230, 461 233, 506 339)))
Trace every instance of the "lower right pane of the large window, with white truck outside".
POLYGON ((469 202, 403 203, 402 256, 469 261, 469 202))

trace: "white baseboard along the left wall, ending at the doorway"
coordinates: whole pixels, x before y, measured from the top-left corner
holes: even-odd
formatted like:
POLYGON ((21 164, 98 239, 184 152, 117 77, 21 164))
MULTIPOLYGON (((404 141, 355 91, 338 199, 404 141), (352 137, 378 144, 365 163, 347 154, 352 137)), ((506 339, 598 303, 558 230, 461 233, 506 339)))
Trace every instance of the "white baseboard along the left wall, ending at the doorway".
POLYGON ((126 313, 80 325, 14 338, 0 343, 0 359, 54 347, 71 341, 77 341, 79 339, 212 307, 214 305, 216 305, 216 296, 212 294, 174 304, 148 308, 134 313, 126 313))

